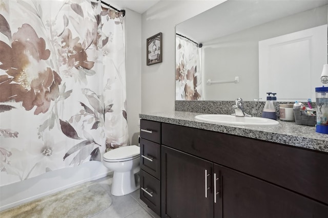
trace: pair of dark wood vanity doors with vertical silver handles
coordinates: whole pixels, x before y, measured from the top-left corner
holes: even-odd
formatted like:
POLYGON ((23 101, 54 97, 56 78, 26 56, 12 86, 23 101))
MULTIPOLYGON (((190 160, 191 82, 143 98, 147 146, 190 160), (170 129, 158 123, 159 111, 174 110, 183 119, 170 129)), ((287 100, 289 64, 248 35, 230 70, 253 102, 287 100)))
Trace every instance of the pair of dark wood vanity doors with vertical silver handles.
POLYGON ((162 217, 326 217, 327 206, 162 145, 162 217))

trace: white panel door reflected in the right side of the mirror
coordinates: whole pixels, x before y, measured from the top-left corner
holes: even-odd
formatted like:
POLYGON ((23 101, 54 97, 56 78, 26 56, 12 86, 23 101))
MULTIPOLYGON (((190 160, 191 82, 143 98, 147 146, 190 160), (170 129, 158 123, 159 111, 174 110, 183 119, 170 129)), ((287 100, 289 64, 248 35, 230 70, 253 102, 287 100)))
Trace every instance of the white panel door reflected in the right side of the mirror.
POLYGON ((259 41, 259 97, 274 90, 281 101, 315 101, 326 55, 327 25, 259 41))

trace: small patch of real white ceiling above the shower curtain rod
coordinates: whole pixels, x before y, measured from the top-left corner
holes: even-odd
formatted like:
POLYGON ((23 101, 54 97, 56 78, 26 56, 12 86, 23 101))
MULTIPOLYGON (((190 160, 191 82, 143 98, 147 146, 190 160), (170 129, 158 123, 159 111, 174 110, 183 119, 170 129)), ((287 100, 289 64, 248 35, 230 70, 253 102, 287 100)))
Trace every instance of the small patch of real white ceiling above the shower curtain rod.
POLYGON ((160 0, 101 0, 117 9, 130 9, 138 12, 139 14, 144 13, 153 5, 158 3, 160 0))

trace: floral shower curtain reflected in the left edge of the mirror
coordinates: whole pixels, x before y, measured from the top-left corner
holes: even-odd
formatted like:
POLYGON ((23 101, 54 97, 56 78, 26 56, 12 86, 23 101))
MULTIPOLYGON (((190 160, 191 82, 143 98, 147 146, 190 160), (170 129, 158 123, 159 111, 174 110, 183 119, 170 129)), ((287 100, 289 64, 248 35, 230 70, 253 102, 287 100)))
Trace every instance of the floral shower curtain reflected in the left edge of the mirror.
POLYGON ((202 100, 199 48, 179 35, 176 35, 175 45, 175 99, 202 100))

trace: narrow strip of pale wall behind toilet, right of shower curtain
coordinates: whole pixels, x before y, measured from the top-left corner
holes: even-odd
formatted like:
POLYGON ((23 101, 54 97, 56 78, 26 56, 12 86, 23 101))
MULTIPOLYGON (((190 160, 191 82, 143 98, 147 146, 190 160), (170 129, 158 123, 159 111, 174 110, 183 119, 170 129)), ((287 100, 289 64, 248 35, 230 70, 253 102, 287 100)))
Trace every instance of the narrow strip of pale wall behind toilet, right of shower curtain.
POLYGON ((126 10, 126 83, 130 143, 138 145, 141 113, 141 14, 126 10))

